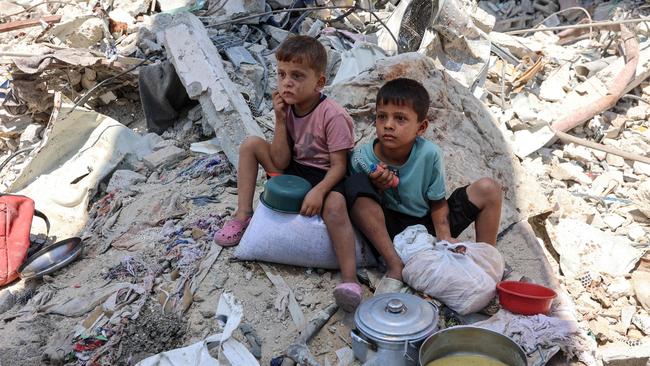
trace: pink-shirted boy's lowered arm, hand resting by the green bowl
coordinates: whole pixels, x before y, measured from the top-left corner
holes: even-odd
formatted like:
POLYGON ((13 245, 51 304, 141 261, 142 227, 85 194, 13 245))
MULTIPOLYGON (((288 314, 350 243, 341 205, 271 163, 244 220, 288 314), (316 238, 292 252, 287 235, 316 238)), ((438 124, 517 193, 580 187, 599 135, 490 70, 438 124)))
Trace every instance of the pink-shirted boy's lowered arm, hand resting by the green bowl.
POLYGON ((313 187, 302 201, 300 214, 314 216, 320 214, 323 200, 334 186, 343 179, 347 169, 348 151, 339 150, 330 153, 330 168, 325 178, 313 187))

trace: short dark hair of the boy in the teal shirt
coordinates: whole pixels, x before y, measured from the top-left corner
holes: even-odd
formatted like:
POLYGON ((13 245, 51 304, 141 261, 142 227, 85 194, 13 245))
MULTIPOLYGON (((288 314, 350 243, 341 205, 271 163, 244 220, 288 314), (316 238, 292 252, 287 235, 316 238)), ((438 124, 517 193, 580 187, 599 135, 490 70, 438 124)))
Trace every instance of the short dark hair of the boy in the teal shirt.
POLYGON ((377 105, 409 105, 418 115, 418 122, 424 121, 429 113, 429 93, 413 79, 393 79, 377 92, 377 105))

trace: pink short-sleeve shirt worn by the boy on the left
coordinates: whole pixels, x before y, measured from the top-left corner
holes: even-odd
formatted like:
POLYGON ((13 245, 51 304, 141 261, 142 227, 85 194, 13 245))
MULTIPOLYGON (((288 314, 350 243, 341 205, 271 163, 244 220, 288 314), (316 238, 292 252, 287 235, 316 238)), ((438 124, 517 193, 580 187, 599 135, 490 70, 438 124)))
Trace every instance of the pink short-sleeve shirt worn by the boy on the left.
POLYGON ((324 97, 310 113, 296 116, 287 110, 287 132, 293 141, 293 160, 328 170, 330 153, 354 147, 354 126, 346 110, 324 97))

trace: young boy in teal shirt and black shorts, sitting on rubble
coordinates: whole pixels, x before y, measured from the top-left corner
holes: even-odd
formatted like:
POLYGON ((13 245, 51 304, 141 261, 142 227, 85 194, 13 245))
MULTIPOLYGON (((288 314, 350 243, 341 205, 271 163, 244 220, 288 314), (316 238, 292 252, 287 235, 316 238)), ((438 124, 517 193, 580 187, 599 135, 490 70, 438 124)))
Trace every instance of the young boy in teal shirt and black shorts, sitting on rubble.
POLYGON ((377 139, 352 155, 345 183, 350 216, 388 267, 375 293, 401 287, 404 264, 392 240, 408 226, 424 225, 439 240, 455 243, 475 222, 476 241, 496 245, 501 187, 481 178, 445 198, 443 152, 422 137, 429 104, 419 82, 387 82, 376 98, 377 139))

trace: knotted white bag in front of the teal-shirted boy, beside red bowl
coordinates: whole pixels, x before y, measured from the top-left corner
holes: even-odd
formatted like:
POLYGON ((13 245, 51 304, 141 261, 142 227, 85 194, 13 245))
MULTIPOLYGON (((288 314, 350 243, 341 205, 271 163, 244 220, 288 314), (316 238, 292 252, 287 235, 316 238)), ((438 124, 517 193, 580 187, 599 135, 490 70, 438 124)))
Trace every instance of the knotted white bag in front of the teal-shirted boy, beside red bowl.
MULTIPOLYGON (((402 277, 404 282, 417 291, 442 301, 461 315, 475 313, 496 295, 496 284, 501 280, 505 263, 499 251, 486 243, 464 242, 451 244, 446 241, 434 243, 435 238, 422 225, 411 226, 416 235, 395 237, 395 247, 429 248, 410 251, 402 277), (406 241, 406 242, 403 242, 406 241), (467 248, 465 254, 450 249, 467 248), (417 255, 413 255, 417 253, 417 255)), ((405 230, 406 231, 406 230, 405 230)), ((403 254, 407 253, 402 250, 403 254)))

